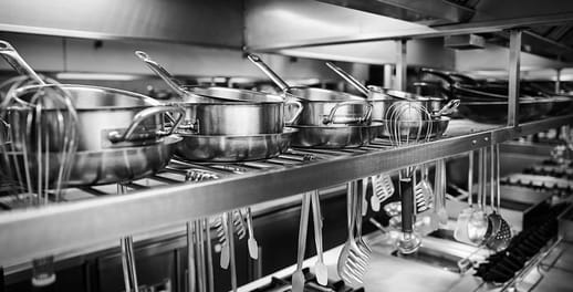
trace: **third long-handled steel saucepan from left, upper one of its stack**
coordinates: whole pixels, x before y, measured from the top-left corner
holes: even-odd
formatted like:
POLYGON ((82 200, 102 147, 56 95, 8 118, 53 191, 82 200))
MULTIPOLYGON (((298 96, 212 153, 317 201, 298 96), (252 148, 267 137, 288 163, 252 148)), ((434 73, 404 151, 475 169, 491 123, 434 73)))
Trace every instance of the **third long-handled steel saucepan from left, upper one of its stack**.
POLYGON ((367 125, 371 123, 372 104, 355 95, 313 87, 291 87, 258 55, 249 54, 253 62, 283 92, 286 98, 296 98, 303 105, 296 125, 325 126, 334 124, 367 125))

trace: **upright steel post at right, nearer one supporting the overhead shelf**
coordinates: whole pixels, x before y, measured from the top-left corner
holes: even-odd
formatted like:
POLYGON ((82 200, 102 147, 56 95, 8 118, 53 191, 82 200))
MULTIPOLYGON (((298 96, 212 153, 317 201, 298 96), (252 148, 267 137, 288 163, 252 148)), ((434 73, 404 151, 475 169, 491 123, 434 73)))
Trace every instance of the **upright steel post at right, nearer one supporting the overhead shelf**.
POLYGON ((521 30, 510 30, 509 35, 509 101, 508 126, 519 126, 521 30))

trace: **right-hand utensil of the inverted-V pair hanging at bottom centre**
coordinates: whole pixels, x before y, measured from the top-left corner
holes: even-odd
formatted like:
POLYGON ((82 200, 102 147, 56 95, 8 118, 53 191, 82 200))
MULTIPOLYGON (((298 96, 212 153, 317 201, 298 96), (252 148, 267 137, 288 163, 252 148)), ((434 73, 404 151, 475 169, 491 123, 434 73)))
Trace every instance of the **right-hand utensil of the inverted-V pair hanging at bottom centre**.
POLYGON ((314 222, 314 242, 316 244, 316 263, 314 263, 314 273, 316 274, 316 282, 321 285, 326 285, 329 284, 329 269, 324 264, 324 258, 322 254, 322 212, 317 190, 312 191, 311 202, 312 220, 314 222))

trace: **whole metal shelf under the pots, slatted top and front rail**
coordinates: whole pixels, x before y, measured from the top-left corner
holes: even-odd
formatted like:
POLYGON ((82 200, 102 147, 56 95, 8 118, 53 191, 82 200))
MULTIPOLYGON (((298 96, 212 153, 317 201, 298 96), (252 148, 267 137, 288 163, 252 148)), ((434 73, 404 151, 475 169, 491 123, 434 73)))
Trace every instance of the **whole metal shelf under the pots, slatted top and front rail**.
MULTIPOLYGON (((125 185, 132 189, 127 195, 112 196, 116 191, 115 185, 70 189, 69 202, 0 212, 3 234, 0 237, 0 265, 173 227, 192 218, 446 158, 572 123, 573 115, 519 127, 452 121, 446 137, 406 147, 392 147, 377 139, 369 146, 355 149, 290 149, 264 161, 231 165, 174 163, 170 170, 125 185), (218 178, 185 182, 185 175, 189 171, 208 171, 218 178)), ((10 202, 4 201, 3 205, 9 206, 10 202)))

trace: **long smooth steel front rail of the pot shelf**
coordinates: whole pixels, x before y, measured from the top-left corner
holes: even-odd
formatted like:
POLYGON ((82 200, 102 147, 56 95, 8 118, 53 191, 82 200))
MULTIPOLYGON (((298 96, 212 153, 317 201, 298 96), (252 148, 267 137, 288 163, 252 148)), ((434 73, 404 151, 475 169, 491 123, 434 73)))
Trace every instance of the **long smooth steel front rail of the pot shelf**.
POLYGON ((184 223, 252 204, 324 188, 372 174, 454 156, 492 140, 572 123, 573 115, 365 154, 284 166, 199 184, 177 184, 0 213, 0 265, 59 254, 125 234, 184 223))

